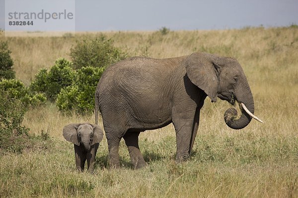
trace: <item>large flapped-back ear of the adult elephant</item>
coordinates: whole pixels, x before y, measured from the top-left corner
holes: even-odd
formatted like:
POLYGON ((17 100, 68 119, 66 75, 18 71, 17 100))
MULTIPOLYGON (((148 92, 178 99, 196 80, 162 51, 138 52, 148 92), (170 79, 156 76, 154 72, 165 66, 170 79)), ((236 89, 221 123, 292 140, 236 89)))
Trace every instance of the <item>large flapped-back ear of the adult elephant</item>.
POLYGON ((213 54, 195 52, 185 59, 188 78, 203 90, 213 102, 217 100, 219 87, 219 66, 217 65, 219 58, 213 54))

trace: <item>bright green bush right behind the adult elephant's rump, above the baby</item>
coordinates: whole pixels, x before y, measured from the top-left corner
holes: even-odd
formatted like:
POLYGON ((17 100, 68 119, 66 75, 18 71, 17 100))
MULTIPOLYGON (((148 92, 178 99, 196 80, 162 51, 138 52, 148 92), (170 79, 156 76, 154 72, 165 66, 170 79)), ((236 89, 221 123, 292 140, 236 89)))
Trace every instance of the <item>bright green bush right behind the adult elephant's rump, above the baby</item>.
POLYGON ((80 113, 93 112, 94 93, 103 68, 82 67, 77 70, 75 83, 61 90, 56 105, 59 110, 76 110, 80 113))

